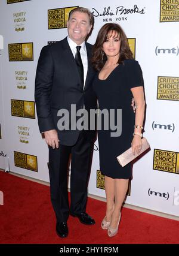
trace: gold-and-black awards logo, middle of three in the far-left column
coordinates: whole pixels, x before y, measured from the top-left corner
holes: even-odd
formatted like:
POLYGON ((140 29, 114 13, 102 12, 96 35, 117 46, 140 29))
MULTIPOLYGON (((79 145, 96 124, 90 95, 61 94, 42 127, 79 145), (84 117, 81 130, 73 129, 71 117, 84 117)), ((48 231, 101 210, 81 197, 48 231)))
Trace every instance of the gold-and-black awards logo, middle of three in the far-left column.
POLYGON ((11 115, 35 119, 35 102, 11 100, 11 115))

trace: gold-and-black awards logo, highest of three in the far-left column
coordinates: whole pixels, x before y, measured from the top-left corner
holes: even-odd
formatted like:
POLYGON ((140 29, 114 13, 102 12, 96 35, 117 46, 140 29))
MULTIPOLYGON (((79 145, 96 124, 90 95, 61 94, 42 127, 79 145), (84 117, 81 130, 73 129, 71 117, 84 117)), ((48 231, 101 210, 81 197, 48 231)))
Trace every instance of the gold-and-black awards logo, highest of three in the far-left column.
POLYGON ((33 61, 33 43, 9 44, 9 61, 33 61))

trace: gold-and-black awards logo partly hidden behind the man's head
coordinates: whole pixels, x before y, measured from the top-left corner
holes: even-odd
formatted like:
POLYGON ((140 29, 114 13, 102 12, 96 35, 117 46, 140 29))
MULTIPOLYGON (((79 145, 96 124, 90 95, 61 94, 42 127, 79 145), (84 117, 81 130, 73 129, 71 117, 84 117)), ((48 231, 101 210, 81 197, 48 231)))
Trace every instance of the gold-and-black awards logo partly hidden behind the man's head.
POLYGON ((71 10, 78 6, 48 10, 48 29, 67 28, 67 20, 71 10))

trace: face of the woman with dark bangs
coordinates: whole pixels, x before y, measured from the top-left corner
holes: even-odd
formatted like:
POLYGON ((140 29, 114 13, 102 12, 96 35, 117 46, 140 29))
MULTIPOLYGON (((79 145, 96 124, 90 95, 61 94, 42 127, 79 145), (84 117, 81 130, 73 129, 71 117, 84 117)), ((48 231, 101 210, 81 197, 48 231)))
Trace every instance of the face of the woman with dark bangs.
POLYGON ((107 57, 119 55, 121 41, 116 31, 109 31, 106 41, 103 43, 103 51, 107 57))

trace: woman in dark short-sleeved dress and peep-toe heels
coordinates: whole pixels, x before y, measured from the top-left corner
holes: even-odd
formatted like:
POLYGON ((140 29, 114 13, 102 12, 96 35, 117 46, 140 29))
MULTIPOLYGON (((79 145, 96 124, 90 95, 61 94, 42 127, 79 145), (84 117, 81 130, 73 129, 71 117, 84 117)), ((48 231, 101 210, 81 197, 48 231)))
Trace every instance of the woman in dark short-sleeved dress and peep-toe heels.
POLYGON ((98 130, 100 170, 105 176, 107 200, 106 216, 101 222, 101 228, 107 230, 109 236, 115 236, 128 180, 132 176, 131 163, 121 167, 116 157, 131 144, 134 154, 141 150, 145 109, 143 76, 140 65, 132 57, 124 31, 115 23, 106 23, 98 32, 92 65, 98 71, 93 86, 99 109, 107 109, 109 112, 115 110, 115 124, 118 125, 117 110, 122 110, 121 135, 113 137, 111 132, 114 131, 110 127, 104 128, 104 119, 98 130), (136 106, 135 113, 131 108, 132 97, 136 106))

